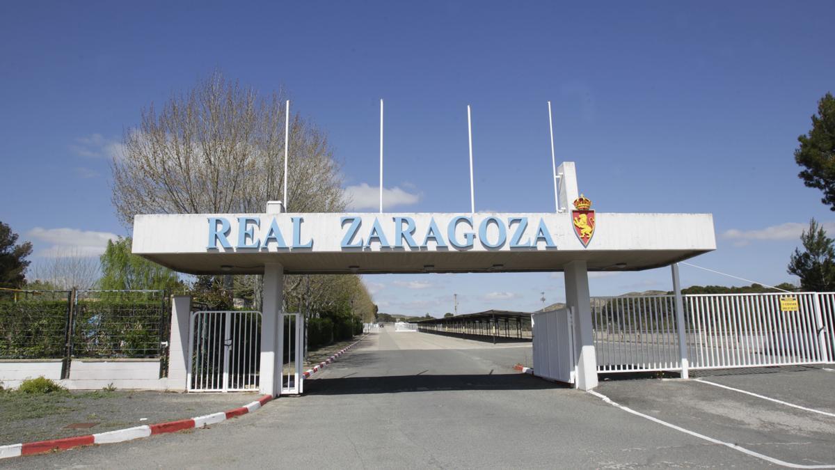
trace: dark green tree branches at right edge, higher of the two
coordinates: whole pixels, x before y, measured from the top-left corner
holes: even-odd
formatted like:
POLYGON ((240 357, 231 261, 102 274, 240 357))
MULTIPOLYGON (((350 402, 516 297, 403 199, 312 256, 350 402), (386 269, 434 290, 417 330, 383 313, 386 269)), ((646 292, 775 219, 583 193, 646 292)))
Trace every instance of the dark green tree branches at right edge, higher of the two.
POLYGON ((817 102, 812 130, 797 140, 800 146, 794 151, 794 160, 804 168, 798 176, 806 186, 821 190, 821 202, 835 211, 835 98, 831 93, 817 102))

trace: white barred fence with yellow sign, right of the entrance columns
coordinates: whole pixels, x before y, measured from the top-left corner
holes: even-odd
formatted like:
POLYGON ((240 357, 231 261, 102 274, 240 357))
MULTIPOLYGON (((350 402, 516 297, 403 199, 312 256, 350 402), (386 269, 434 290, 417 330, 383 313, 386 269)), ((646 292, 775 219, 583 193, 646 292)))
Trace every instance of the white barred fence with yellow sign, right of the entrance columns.
POLYGON ((599 372, 820 364, 832 357, 835 293, 683 296, 679 331, 673 295, 592 298, 599 372), (797 301, 783 308, 781 299, 797 301), (680 336, 681 333, 681 336, 680 336))

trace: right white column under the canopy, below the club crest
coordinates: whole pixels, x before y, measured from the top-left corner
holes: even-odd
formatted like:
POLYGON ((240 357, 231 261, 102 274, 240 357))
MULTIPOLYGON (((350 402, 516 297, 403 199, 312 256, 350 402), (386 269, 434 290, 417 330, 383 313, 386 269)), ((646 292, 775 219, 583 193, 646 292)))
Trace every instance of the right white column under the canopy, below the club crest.
POLYGON ((574 308, 574 357, 577 360, 577 388, 597 386, 597 356, 591 324, 589 273, 585 261, 565 265, 565 303, 574 308))

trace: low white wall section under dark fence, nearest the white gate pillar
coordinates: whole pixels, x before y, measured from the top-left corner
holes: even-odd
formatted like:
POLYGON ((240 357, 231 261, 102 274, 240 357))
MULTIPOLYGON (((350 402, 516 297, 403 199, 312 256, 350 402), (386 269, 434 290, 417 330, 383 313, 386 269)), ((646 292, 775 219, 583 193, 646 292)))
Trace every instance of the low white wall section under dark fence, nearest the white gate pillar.
POLYGON ((69 379, 61 385, 71 390, 92 390, 113 385, 117 389, 165 390, 159 378, 159 359, 73 359, 69 379))

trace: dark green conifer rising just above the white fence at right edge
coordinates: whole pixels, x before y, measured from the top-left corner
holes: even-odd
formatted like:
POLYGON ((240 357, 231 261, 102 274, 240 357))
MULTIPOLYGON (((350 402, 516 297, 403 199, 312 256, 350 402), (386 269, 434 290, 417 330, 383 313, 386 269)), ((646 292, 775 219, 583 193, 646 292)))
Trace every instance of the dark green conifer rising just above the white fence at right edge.
POLYGON ((788 273, 800 278, 803 290, 824 292, 835 288, 835 248, 832 238, 812 219, 800 236, 804 251, 795 248, 788 273))

